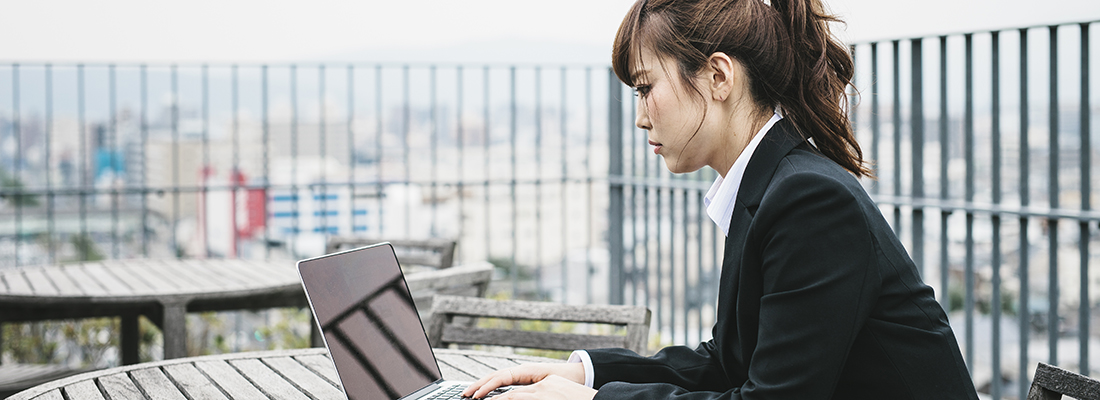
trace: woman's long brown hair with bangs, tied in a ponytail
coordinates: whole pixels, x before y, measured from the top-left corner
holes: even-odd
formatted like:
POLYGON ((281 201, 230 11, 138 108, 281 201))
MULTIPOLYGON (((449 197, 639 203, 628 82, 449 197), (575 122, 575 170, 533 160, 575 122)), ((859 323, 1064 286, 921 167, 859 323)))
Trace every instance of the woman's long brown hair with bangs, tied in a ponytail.
POLYGON ((745 66, 758 104, 779 105, 825 156, 872 176, 845 113, 851 56, 829 22, 839 20, 821 0, 638 0, 615 36, 612 67, 634 87, 632 62, 646 45, 675 59, 680 80, 694 87, 707 57, 725 53, 745 66))

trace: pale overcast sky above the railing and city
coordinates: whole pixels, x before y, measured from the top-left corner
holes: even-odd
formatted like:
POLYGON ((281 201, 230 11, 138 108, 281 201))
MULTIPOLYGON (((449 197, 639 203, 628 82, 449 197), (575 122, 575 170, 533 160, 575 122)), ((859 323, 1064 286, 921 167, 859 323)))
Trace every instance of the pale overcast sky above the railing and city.
MULTIPOLYGON (((497 60, 565 57, 605 63, 615 30, 631 3, 0 0, 0 62, 469 60, 463 52, 490 47, 512 53, 497 60), (485 45, 494 43, 512 45, 485 45), (520 47, 536 48, 517 51, 520 47)), ((840 33, 848 41, 1100 20, 1097 0, 833 0, 827 4, 848 21, 840 33)))

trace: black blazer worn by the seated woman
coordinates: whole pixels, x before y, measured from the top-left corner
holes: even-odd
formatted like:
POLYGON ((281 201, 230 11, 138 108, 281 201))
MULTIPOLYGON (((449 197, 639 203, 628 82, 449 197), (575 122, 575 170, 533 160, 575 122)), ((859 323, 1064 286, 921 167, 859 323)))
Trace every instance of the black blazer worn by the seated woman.
POLYGON ((596 399, 977 399, 932 288, 847 170, 787 120, 749 160, 714 338, 588 351, 596 399))

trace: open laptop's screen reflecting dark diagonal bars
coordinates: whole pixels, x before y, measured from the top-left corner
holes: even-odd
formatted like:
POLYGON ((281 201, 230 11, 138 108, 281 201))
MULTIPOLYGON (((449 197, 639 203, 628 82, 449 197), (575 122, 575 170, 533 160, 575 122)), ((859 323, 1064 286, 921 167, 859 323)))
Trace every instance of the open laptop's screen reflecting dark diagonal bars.
POLYGON ((398 399, 442 375, 388 243, 298 263, 349 399, 398 399))

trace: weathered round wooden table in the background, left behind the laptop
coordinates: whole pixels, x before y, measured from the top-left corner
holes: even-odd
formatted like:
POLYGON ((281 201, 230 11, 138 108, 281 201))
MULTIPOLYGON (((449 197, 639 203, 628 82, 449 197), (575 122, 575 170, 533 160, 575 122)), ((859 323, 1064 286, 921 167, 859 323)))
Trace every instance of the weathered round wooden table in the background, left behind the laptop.
POLYGON ((186 313, 306 307, 294 260, 114 259, 0 269, 0 322, 121 316, 122 364, 139 362, 138 316, 187 356, 186 313))

